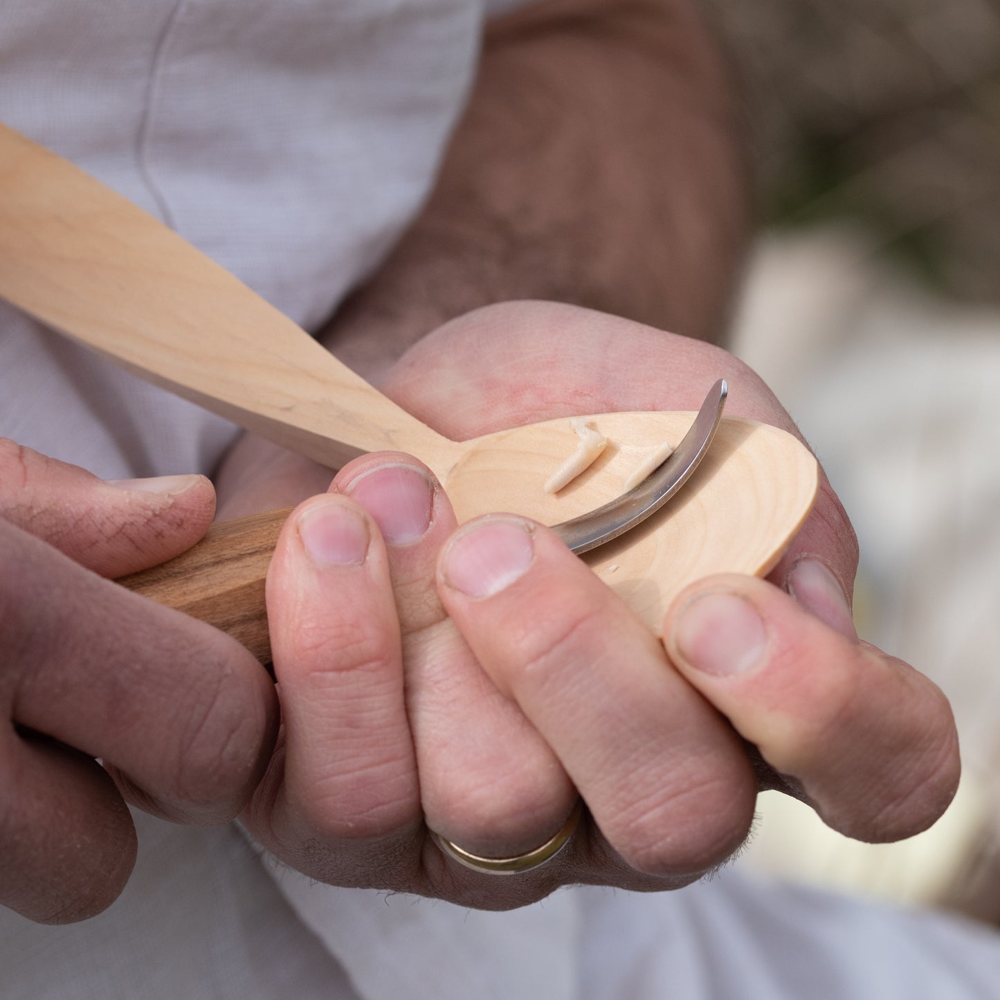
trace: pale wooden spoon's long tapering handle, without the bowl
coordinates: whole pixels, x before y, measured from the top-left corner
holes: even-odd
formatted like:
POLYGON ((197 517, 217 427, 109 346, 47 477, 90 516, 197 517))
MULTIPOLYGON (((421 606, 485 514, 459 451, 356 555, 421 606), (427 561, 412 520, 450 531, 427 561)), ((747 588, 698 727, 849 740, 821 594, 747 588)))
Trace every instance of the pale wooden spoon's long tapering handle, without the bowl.
MULTIPOLYGON (((456 446, 228 271, 0 124, 0 297, 148 381, 324 465, 456 446)), ((436 468, 438 467, 438 468, 436 468)))

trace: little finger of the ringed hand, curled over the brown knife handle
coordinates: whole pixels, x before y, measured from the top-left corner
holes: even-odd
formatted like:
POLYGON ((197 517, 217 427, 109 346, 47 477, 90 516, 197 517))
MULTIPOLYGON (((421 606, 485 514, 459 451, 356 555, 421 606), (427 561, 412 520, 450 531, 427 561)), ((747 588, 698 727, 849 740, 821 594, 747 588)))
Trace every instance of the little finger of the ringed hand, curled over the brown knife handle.
MULTIPOLYGON (((351 884, 361 858, 405 863, 420 825, 399 624, 385 546, 351 500, 313 497, 288 520, 267 578, 285 734, 283 775, 249 816, 314 877, 351 884)), ((379 873, 398 877, 387 862, 379 873)))

